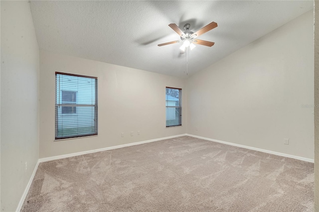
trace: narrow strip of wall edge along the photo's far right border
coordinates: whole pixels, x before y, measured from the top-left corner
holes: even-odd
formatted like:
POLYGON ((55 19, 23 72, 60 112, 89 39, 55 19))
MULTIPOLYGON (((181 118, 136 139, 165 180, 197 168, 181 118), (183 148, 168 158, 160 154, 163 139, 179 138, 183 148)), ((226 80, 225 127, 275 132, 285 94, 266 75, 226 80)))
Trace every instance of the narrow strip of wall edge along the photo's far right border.
MULTIPOLYGON (((315 0, 315 105, 319 105, 319 1, 315 0)), ((315 107, 315 212, 319 212, 319 107, 315 107)))

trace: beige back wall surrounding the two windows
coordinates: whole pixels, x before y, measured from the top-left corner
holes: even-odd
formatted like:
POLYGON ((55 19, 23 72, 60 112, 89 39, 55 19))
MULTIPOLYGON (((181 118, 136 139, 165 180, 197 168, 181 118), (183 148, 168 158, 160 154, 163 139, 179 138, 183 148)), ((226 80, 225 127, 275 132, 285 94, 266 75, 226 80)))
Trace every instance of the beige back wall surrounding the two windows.
POLYGON ((40 51, 40 158, 184 134, 185 115, 165 127, 166 86, 182 89, 185 114, 183 79, 40 51), (98 136, 54 141, 55 72, 98 77, 98 136))

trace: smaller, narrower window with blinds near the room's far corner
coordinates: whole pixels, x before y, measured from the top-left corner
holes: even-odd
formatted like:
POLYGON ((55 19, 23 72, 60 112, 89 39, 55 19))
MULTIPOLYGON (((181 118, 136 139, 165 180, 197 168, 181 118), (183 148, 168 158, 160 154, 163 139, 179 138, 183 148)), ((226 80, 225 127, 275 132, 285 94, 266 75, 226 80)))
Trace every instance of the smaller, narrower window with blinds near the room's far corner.
POLYGON ((166 87, 166 127, 181 126, 181 89, 166 87))

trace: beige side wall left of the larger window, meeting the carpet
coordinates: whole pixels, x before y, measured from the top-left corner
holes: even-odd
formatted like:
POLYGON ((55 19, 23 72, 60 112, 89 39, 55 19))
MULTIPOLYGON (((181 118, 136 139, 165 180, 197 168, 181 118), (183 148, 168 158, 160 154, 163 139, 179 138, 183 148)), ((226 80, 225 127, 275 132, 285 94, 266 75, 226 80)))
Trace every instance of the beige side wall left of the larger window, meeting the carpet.
POLYGON ((29 3, 1 0, 1 212, 16 210, 38 161, 38 74, 29 3))

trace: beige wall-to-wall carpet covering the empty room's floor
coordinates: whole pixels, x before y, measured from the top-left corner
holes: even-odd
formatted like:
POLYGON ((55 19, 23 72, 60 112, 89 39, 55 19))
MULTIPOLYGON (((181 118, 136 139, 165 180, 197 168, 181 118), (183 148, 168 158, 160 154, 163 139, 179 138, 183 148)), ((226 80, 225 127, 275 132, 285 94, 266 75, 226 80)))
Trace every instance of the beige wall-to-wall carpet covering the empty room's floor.
POLYGON ((314 164, 182 136, 41 163, 21 211, 314 211, 314 164))

